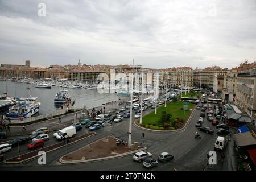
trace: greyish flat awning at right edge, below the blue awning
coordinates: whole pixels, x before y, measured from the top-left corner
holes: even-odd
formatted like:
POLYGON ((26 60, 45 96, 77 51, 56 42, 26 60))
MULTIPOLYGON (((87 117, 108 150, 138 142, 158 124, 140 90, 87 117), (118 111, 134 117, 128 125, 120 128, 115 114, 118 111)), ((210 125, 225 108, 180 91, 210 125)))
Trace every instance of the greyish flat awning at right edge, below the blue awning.
POLYGON ((251 135, 250 132, 234 134, 237 147, 243 146, 256 146, 256 139, 251 135))

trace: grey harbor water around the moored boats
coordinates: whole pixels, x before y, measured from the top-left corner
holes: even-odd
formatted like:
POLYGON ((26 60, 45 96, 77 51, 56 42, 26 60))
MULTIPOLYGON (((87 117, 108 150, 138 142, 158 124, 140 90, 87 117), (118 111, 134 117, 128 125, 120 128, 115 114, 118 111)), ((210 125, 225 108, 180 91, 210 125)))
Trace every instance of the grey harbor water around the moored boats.
MULTIPOLYGON (((9 93, 10 97, 27 98, 27 88, 30 88, 32 97, 38 97, 39 102, 41 102, 39 114, 52 113, 57 108, 54 105, 54 98, 56 93, 63 88, 59 86, 52 86, 51 89, 47 88, 36 88, 35 84, 26 84, 23 82, 13 82, 13 81, 0 81, 0 95, 4 93, 9 93)), ((82 88, 64 88, 68 90, 69 96, 75 97, 76 90, 76 102, 74 107, 82 107, 83 105, 87 109, 93 107, 102 106, 107 102, 117 101, 118 96, 116 93, 112 94, 100 94, 97 89, 82 89, 82 88)))

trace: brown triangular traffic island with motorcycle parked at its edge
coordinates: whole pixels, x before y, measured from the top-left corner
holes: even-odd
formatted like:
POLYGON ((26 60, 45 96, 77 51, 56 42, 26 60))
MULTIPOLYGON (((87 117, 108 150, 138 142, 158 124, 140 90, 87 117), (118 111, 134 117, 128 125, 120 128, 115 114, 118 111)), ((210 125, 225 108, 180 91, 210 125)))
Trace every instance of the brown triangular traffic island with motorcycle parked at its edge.
POLYGON ((139 146, 138 142, 135 142, 131 147, 129 147, 127 143, 122 146, 117 146, 115 143, 116 140, 117 138, 112 136, 102 138, 61 157, 60 162, 64 164, 72 164, 106 160, 134 154, 135 152, 147 149, 147 147, 139 146))

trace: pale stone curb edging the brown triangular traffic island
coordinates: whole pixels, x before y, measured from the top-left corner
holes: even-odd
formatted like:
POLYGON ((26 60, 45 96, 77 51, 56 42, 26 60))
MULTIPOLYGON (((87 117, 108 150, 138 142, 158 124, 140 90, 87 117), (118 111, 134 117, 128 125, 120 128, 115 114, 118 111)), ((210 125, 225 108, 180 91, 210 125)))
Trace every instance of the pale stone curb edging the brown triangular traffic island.
MULTIPOLYGON (((113 137, 113 136, 112 136, 113 137)), ((104 137, 105 138, 105 137, 104 137)), ((102 140, 104 138, 101 138, 101 139, 98 139, 98 140, 102 140)), ((115 138, 115 137, 114 137, 115 138)), ((117 138, 116 138, 117 139, 117 138)), ((95 142, 97 142, 98 140, 96 140, 95 142)), ((95 142, 92 142, 90 144, 93 144, 95 142)), ((78 150, 81 150, 82 148, 85 148, 85 147, 81 147, 73 152, 76 152, 78 150)), ((134 151, 130 151, 130 152, 125 152, 123 154, 118 154, 118 153, 115 153, 117 155, 114 155, 114 156, 108 156, 108 157, 104 157, 104 158, 97 158, 97 159, 87 159, 87 160, 84 160, 84 159, 80 159, 80 160, 71 160, 71 161, 67 161, 67 160, 63 160, 63 157, 65 156, 62 156, 60 159, 59 159, 59 162, 60 163, 63 163, 63 164, 75 164, 75 163, 86 163, 86 162, 94 162, 94 161, 99 161, 99 160, 108 160, 108 159, 113 159, 113 158, 120 158, 122 156, 126 156, 126 155, 130 155, 130 154, 134 154, 136 152, 139 152, 139 151, 143 151, 143 150, 147 150, 148 148, 147 147, 143 147, 143 148, 139 148, 137 150, 134 150, 134 151)), ((73 152, 70 152, 69 154, 72 154, 73 152)))

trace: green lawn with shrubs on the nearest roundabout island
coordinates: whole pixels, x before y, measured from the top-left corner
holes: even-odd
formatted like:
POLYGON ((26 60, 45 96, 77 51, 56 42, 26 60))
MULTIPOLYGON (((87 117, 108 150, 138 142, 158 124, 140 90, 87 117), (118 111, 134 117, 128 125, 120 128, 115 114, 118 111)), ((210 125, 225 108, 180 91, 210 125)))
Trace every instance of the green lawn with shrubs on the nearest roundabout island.
POLYGON ((157 114, 155 114, 155 110, 153 110, 150 114, 145 115, 142 118, 142 123, 144 125, 146 124, 162 124, 160 122, 160 117, 161 117, 161 113, 163 110, 166 111, 166 113, 170 113, 172 114, 172 118, 171 121, 174 121, 177 118, 183 118, 185 119, 185 121, 187 121, 189 114, 191 113, 191 111, 189 109, 193 109, 193 104, 188 103, 188 110, 181 110, 181 108, 183 108, 183 103, 181 101, 177 101, 177 102, 168 102, 166 107, 164 107, 164 105, 162 105, 161 107, 158 108, 157 114))

